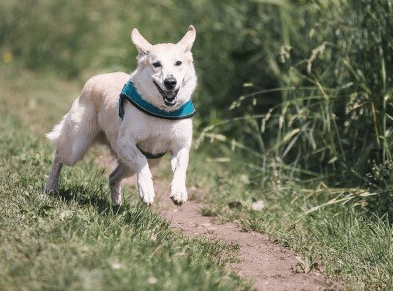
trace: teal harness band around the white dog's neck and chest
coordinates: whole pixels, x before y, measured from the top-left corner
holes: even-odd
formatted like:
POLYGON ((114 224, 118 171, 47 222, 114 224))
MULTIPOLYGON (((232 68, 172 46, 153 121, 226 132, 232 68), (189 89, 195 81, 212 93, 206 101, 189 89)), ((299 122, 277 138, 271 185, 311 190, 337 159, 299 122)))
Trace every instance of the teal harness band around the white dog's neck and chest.
POLYGON ((191 118, 196 113, 192 100, 184 103, 179 109, 174 111, 167 112, 161 110, 160 108, 144 100, 136 90, 134 83, 130 80, 124 85, 123 90, 121 90, 120 93, 119 116, 121 119, 123 119, 124 116, 124 100, 126 99, 140 111, 157 118, 179 120, 191 118))

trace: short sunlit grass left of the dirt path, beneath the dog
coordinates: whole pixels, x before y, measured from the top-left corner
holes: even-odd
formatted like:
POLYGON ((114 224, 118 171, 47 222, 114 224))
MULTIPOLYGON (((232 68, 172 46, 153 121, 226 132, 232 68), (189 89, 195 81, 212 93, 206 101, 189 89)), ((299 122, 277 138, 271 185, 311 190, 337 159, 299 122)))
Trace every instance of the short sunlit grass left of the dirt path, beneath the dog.
POLYGON ((53 148, 41 133, 75 87, 28 72, 23 83, 2 71, 0 290, 249 290, 226 268, 236 260, 231 246, 173 232, 136 193, 111 205, 93 159, 66 168, 58 193, 42 194, 53 148))

